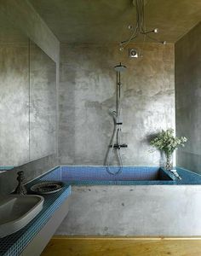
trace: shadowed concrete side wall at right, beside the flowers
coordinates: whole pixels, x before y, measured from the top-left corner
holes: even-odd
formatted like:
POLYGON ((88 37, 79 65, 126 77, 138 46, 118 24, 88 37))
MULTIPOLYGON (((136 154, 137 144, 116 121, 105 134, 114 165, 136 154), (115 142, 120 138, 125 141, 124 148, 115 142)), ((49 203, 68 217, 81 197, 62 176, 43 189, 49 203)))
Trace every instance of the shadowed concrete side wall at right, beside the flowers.
POLYGON ((201 23, 175 44, 176 134, 186 136, 177 165, 201 173, 201 23))

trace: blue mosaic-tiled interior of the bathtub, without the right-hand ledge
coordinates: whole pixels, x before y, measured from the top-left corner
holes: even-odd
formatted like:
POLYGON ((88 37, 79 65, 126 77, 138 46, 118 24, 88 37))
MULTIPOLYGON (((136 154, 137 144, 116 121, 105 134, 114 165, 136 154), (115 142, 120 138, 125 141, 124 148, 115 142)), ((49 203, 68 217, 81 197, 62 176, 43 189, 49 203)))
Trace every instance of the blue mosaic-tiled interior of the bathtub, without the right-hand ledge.
MULTIPOLYGON (((118 167, 112 166, 112 172, 118 167)), ((71 184, 129 184, 129 183, 172 183, 170 173, 158 167, 123 166, 121 172, 112 175, 106 166, 60 166, 42 177, 43 180, 62 180, 71 184)))

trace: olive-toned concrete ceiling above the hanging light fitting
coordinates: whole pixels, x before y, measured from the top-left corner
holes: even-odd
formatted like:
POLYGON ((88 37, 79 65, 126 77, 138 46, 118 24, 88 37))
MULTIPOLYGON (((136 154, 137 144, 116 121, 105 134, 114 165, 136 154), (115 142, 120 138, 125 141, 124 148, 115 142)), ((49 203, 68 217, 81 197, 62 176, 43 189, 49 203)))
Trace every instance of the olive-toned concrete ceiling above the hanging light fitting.
MULTIPOLYGON (((29 1, 60 42, 119 42, 135 25, 132 0, 29 1)), ((146 29, 159 29, 155 38, 175 43, 201 20, 201 0, 146 0, 145 15, 146 29)))

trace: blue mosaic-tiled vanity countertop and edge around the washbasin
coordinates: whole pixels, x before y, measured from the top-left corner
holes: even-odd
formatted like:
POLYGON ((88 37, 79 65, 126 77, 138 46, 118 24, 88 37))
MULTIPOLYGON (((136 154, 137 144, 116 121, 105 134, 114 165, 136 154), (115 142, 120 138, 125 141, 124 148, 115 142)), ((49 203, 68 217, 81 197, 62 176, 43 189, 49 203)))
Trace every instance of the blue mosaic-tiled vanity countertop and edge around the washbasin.
MULTIPOLYGON (((36 182, 36 181, 35 181, 36 182)), ((30 185, 33 183, 30 183, 30 185)), ((37 217, 27 224, 23 229, 12 235, 0 238, 0 255, 19 255, 30 241, 37 235, 43 226, 49 221, 52 214, 60 207, 63 201, 71 194, 71 187, 66 186, 55 194, 43 195, 43 210, 37 217)))

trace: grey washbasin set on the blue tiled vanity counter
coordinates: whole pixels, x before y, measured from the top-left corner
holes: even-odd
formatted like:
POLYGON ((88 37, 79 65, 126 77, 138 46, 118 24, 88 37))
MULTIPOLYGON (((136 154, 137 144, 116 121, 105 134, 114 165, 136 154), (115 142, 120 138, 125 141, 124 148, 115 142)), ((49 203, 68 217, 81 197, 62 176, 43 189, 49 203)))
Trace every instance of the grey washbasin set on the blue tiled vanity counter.
POLYGON ((43 209, 41 195, 0 195, 0 238, 22 229, 43 209))

